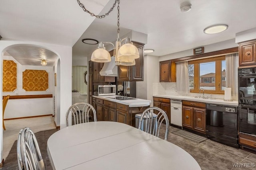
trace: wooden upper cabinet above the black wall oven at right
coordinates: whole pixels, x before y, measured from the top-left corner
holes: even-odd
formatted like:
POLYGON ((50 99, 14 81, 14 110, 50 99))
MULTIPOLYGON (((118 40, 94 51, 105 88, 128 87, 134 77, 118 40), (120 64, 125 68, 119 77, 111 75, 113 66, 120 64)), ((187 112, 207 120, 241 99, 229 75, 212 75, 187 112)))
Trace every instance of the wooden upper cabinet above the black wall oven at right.
POLYGON ((239 66, 256 65, 256 40, 239 43, 239 66))

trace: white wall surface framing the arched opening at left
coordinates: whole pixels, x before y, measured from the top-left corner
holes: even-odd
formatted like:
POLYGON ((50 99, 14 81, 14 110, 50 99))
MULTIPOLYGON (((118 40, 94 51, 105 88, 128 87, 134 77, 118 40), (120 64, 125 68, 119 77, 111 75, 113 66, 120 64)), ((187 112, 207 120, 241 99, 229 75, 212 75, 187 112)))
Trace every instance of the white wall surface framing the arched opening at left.
MULTIPOLYGON (((56 53, 60 58, 60 128, 65 127, 65 114, 68 108, 72 105, 72 47, 54 45, 47 43, 31 42, 31 41, 0 41, 0 76, 2 78, 2 60, 3 54, 8 49, 8 47, 17 44, 29 44, 37 47, 43 47, 50 51, 56 53)), ((56 69, 56 65, 55 65, 56 69)), ((1 81, 2 82, 2 81, 1 81)), ((0 89, 2 89, 2 83, 0 83, 0 89)), ((0 93, 0 98, 2 98, 2 90, 0 93)), ((50 106, 51 107, 51 106, 50 106)), ((2 105, 0 105, 0 111, 2 111, 2 105)), ((0 119, 2 119, 2 113, 0 114, 0 119)), ((0 121, 0 127, 2 128, 2 121, 0 121)), ((3 151, 3 132, 0 130, 0 147, 1 155, 0 160, 2 160, 3 151)))

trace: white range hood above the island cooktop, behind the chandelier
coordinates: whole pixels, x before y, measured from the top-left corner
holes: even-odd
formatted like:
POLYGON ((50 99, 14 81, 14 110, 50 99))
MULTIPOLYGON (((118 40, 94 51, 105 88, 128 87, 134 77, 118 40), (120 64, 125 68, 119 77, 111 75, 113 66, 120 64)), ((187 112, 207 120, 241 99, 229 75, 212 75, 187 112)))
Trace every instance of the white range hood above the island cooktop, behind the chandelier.
POLYGON ((117 77, 117 66, 116 66, 116 58, 114 56, 111 57, 111 61, 108 63, 104 63, 102 69, 100 70, 101 76, 115 76, 117 77))

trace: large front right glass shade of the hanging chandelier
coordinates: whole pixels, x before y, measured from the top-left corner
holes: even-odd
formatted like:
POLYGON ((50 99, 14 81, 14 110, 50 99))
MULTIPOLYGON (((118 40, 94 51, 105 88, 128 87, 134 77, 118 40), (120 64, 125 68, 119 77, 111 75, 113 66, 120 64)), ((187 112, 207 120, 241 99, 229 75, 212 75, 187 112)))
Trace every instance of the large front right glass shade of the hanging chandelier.
POLYGON ((117 58, 120 60, 138 59, 140 58, 140 54, 137 47, 135 47, 131 43, 126 43, 118 49, 117 58))

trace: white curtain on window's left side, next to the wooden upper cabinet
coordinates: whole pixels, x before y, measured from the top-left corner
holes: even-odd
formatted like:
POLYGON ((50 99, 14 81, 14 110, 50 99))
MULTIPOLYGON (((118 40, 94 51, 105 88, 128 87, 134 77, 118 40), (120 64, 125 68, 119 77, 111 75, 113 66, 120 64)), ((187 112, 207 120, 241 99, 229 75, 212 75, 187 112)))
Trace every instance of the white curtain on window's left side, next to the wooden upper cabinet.
POLYGON ((188 61, 176 63, 176 86, 178 93, 189 93, 188 61))

